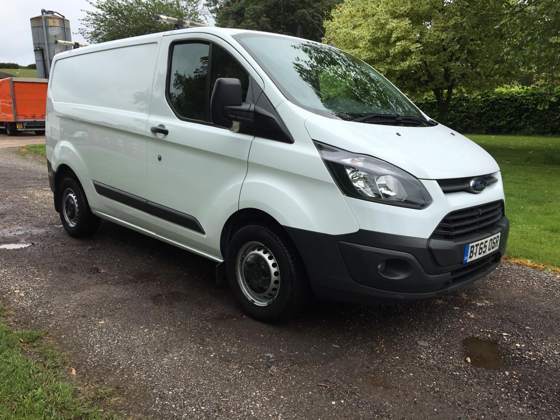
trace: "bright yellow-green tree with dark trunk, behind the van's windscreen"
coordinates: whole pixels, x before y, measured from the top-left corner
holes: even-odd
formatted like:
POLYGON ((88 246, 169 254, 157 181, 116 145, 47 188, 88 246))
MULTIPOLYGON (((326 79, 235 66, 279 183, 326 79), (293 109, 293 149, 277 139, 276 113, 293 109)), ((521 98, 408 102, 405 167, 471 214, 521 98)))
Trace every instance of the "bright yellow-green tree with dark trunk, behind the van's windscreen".
POLYGON ((412 95, 432 91, 445 124, 455 91, 492 88, 520 69, 496 25, 506 0, 346 0, 326 35, 412 95))

